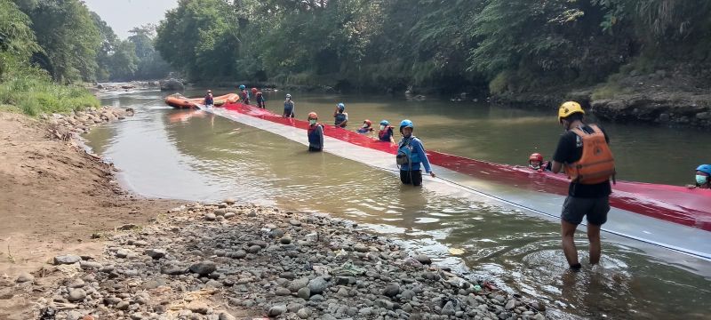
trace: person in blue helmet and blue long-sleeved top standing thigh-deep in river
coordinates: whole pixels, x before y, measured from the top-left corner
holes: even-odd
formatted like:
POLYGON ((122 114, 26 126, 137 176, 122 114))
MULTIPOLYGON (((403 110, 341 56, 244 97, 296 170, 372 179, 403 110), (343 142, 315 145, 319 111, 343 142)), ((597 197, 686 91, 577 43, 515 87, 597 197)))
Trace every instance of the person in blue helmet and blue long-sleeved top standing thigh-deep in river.
POLYGON ((422 184, 420 164, 425 167, 425 172, 432 178, 435 178, 436 175, 430 168, 422 141, 412 135, 414 129, 415 124, 410 120, 405 119, 400 123, 400 133, 403 134, 403 140, 397 144, 395 160, 400 167, 400 180, 403 181, 403 184, 419 186, 422 184))

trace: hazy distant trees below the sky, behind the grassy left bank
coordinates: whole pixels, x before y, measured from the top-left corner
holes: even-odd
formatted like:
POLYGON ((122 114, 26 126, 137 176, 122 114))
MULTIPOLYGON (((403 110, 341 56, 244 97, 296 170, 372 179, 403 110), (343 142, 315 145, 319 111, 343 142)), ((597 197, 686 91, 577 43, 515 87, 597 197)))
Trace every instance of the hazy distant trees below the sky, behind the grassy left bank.
MULTIPOLYGON (((28 17, 21 28, 33 36, 23 44, 33 65, 60 84, 152 79, 170 70, 153 45, 155 26, 133 28, 126 40, 79 0, 0 0, 28 17)), ((8 12, 11 12, 8 9, 8 12)), ((17 27, 20 27, 18 24, 17 27)))

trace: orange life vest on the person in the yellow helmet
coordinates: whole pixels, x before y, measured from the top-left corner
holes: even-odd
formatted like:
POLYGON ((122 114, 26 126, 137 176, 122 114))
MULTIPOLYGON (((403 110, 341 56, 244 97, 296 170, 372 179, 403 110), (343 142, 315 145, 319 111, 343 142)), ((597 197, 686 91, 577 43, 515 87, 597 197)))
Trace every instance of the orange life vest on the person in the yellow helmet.
POLYGON ((605 135, 595 124, 589 124, 593 133, 584 132, 582 129, 574 128, 574 132, 580 137, 583 143, 583 155, 580 160, 573 164, 565 164, 565 174, 573 182, 581 184, 597 184, 609 180, 614 180, 615 160, 612 157, 610 147, 607 146, 605 135))

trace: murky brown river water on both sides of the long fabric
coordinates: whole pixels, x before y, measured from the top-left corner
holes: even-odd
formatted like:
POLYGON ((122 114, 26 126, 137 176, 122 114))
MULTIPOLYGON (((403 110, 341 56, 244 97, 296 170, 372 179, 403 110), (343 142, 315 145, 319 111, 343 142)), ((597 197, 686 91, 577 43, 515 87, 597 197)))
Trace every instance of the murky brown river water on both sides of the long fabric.
MULTIPOLYGON (((201 95, 203 91, 188 92, 201 95)), ((219 91, 216 92, 220 94, 219 91)), ((269 92, 281 112, 285 92, 269 92)), ((551 156, 562 132, 555 112, 392 97, 292 92, 296 116, 332 119, 347 104, 350 127, 369 118, 407 117, 426 148, 497 163, 526 164, 531 152, 551 156)), ((384 172, 219 116, 164 106, 162 92, 115 92, 103 104, 136 109, 126 121, 85 138, 145 196, 215 201, 226 197, 355 220, 436 257, 467 276, 493 278, 511 291, 545 301, 553 318, 705 318, 711 310, 711 266, 667 252, 648 254, 624 241, 603 242, 603 261, 566 272, 555 221, 505 207, 403 188, 384 172), (452 256, 450 248, 464 250, 452 256)), ((693 130, 604 124, 620 180, 685 184, 707 156, 711 137, 693 130)), ((683 235, 680 235, 683 236, 683 235)), ((585 261, 587 239, 577 239, 585 261)))

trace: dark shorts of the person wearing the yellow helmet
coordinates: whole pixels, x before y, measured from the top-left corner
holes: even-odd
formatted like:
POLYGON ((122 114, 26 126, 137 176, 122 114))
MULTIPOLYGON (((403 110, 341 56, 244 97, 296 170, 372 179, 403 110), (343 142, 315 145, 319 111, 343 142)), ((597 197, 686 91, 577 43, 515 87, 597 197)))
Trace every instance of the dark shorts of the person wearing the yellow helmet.
POLYGON ((586 216, 587 223, 602 226, 607 221, 607 212, 610 212, 608 196, 595 198, 568 196, 563 202, 561 219, 579 225, 583 221, 583 216, 586 216))

